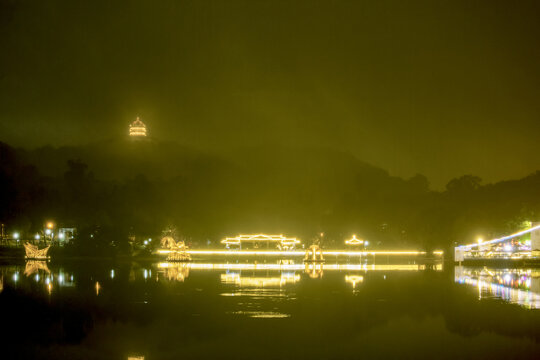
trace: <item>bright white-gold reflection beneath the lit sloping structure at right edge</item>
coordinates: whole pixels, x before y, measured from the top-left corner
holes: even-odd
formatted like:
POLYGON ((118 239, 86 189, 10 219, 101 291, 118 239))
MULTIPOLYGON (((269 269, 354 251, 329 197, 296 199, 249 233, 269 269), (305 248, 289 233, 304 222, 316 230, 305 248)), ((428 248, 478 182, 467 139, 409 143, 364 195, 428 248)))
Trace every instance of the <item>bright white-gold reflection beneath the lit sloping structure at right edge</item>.
POLYGON ((498 298, 540 309, 540 270, 455 267, 455 281, 478 288, 478 298, 498 298))

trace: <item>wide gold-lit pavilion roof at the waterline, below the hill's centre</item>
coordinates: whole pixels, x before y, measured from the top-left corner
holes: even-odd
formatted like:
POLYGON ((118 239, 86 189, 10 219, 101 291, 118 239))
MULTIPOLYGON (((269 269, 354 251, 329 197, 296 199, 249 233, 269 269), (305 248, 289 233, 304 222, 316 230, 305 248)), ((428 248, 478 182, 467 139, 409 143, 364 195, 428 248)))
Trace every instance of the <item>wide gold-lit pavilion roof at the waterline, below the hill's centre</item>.
POLYGON ((293 250, 300 241, 283 235, 256 234, 225 238, 221 243, 225 244, 227 249, 293 250))

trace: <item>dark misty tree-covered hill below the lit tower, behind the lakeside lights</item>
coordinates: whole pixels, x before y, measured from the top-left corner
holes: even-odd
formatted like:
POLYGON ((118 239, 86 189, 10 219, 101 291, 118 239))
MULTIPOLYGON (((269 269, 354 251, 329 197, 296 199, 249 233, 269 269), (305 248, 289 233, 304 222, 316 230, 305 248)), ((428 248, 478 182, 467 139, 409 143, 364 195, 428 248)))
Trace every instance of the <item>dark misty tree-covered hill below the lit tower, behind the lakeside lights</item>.
POLYGON ((26 231, 54 218, 119 238, 172 224, 201 244, 267 232, 332 246, 357 234, 378 247, 450 249, 478 233, 519 229, 540 212, 540 173, 486 185, 467 175, 436 192, 422 175, 394 177, 326 148, 244 147, 226 156, 158 141, 0 148, 2 221, 26 231))

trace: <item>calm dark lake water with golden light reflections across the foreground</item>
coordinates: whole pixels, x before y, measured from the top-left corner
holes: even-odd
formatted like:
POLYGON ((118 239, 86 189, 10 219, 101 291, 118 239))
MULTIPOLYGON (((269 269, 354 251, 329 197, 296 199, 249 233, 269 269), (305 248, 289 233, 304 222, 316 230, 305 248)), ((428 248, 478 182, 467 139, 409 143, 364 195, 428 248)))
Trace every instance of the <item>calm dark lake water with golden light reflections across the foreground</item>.
POLYGON ((212 262, 0 265, 1 359, 540 358, 540 272, 212 262))

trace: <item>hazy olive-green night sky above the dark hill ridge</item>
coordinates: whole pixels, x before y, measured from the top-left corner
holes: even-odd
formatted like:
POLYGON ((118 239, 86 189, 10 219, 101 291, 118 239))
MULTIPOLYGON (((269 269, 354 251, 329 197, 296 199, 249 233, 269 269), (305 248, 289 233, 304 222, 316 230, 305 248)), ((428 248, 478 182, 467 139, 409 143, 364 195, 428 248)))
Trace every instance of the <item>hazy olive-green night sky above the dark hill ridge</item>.
POLYGON ((318 145, 435 187, 540 169, 539 1, 0 0, 0 140, 318 145))

